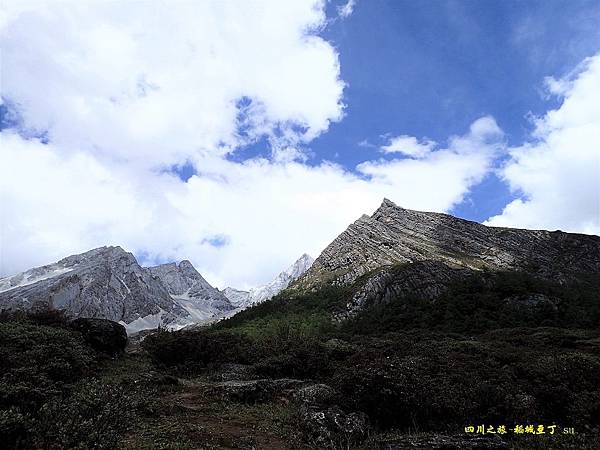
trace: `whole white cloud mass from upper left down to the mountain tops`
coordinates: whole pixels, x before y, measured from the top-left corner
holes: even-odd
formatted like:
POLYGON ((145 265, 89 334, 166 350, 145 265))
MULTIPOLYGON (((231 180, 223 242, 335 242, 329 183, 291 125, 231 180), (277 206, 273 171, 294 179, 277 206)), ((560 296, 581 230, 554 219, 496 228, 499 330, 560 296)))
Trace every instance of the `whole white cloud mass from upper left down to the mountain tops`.
POLYGON ((256 285, 384 196, 448 210, 502 147, 483 118, 419 160, 303 162, 343 115, 322 2, 32 4, 0 16, 2 95, 49 143, 1 133, 2 275, 113 244, 256 285), (260 136, 272 158, 225 158, 260 136))

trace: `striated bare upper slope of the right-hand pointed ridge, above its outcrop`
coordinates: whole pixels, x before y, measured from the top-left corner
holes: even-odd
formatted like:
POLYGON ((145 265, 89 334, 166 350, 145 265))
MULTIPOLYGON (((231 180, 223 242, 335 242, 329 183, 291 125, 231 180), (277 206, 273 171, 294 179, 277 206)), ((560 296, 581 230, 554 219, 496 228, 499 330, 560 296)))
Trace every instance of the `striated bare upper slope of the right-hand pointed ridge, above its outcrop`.
POLYGON ((600 273, 600 237, 487 227, 385 199, 371 217, 363 215, 340 234, 298 284, 345 285, 375 269, 419 261, 454 269, 527 270, 563 281, 600 273))

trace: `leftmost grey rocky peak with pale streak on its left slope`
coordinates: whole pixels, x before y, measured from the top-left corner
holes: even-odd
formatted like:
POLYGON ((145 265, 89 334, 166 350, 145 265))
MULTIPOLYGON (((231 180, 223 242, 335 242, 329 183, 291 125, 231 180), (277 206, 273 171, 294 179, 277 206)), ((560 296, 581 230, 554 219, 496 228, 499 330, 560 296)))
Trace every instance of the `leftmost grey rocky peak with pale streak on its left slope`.
POLYGON ((187 315, 163 284, 121 247, 101 247, 0 279, 1 309, 60 309, 72 317, 130 323, 187 315))

